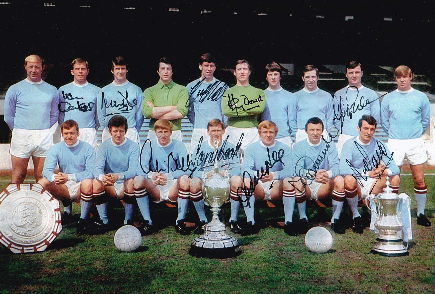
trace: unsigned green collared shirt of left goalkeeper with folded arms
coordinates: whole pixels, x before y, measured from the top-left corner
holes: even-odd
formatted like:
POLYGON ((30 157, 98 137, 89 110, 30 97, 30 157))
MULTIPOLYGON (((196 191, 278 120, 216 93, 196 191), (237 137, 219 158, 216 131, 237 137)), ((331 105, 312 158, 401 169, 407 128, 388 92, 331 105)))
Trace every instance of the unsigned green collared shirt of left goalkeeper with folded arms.
MULTIPOLYGON (((153 108, 149 107, 147 101, 151 101, 154 107, 164 107, 169 105, 177 106, 183 117, 187 114, 187 101, 189 100, 189 94, 187 88, 171 82, 166 85, 160 80, 156 85, 147 88, 144 91, 144 102, 142 103, 142 113, 146 118, 151 118, 150 130, 154 130, 154 122, 157 121, 153 116, 153 108)), ((181 118, 171 120, 174 125, 173 131, 181 130, 181 118)))

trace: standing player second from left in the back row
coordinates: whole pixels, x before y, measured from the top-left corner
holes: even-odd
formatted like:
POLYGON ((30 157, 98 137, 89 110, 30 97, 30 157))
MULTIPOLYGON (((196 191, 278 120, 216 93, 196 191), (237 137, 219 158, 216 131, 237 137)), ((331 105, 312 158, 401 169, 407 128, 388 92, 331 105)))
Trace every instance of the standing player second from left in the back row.
MULTIPOLYGON (((89 74, 86 60, 71 62, 74 81, 59 88, 59 124, 74 119, 80 127, 80 141, 97 150, 97 95, 101 89, 87 82, 89 74)), ((63 139, 63 137, 61 138, 63 139)))

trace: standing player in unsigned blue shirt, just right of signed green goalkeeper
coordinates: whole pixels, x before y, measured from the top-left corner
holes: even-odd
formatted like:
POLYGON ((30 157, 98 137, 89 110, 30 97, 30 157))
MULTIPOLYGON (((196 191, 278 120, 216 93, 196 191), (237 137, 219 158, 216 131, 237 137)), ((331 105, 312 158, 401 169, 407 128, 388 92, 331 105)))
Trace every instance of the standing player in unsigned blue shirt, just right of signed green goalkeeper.
POLYGON ((291 148, 289 117, 293 94, 281 88, 281 66, 276 62, 266 65, 266 80, 269 87, 264 90, 266 107, 261 115, 262 121, 273 121, 278 126, 275 140, 291 148))

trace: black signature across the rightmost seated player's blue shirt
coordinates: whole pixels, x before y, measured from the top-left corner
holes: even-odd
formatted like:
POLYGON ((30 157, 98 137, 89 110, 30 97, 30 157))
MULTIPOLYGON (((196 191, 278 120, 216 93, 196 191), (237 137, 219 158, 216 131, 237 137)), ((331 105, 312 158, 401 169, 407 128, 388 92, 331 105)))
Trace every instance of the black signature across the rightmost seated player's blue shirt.
MULTIPOLYGON (((366 175, 363 176, 361 173, 358 172, 358 170, 352 165, 352 163, 346 159, 346 163, 348 163, 349 167, 355 172, 352 173, 352 176, 355 178, 355 180, 357 180, 357 182, 364 187, 364 185, 362 184, 362 181, 359 179, 361 178, 362 180, 364 180, 365 182, 367 181, 367 177, 368 177, 368 172, 377 169, 379 164, 381 164, 382 161, 382 157, 385 156, 388 158, 388 162, 385 164, 384 169, 382 170, 381 173, 378 174, 378 180, 381 178, 381 174, 384 172, 384 170, 387 169, 388 165, 390 164, 391 160, 393 160, 393 154, 394 152, 391 152, 391 157, 388 156, 387 154, 387 150, 385 148, 385 146, 382 144, 381 141, 376 140, 376 144, 378 145, 378 150, 375 151, 376 154, 373 154, 373 156, 371 157, 371 160, 368 157, 368 154, 365 152, 364 148, 361 147, 360 144, 358 144, 357 141, 354 141, 355 146, 357 147, 359 153, 364 157, 364 159, 362 160, 363 163, 363 170, 362 172, 366 175), (373 165, 372 165, 373 163, 373 165)), ((384 162, 385 163, 385 162, 384 162)), ((378 180, 376 180, 375 184, 373 185, 373 188, 375 187, 376 183, 378 182, 378 180)), ((371 188, 371 191, 373 190, 373 188, 371 188)))

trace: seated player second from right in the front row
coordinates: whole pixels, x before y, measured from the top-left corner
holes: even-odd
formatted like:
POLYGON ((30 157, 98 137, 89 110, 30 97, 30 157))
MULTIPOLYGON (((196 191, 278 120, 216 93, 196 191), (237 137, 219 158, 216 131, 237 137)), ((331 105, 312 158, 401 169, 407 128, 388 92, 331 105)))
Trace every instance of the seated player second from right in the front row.
POLYGON ((297 191, 301 234, 305 234, 308 229, 305 199, 326 199, 329 195, 332 199, 331 227, 338 234, 345 232, 339 222, 345 201, 345 181, 339 176, 335 143, 321 137, 323 130, 323 121, 320 118, 310 118, 305 124, 308 138, 294 144, 291 155, 296 175, 294 186, 297 191))

